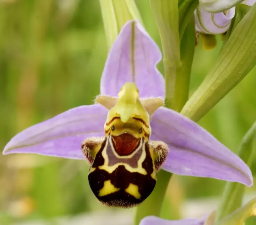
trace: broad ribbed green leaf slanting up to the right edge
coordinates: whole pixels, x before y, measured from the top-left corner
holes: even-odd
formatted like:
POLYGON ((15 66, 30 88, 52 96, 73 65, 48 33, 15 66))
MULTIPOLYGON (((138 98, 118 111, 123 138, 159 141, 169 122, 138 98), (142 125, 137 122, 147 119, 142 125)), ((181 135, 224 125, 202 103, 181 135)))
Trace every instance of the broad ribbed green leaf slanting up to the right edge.
POLYGON ((255 65, 255 4, 236 26, 220 55, 181 113, 192 120, 201 119, 255 65))

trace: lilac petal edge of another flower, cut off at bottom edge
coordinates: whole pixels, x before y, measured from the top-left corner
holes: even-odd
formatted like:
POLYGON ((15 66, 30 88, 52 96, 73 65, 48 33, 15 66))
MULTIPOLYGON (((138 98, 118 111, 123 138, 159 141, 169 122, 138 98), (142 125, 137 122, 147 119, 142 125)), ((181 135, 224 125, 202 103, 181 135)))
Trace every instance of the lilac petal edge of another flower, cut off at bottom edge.
POLYGON ((156 216, 147 216, 139 225, 204 225, 204 219, 164 220, 156 216))

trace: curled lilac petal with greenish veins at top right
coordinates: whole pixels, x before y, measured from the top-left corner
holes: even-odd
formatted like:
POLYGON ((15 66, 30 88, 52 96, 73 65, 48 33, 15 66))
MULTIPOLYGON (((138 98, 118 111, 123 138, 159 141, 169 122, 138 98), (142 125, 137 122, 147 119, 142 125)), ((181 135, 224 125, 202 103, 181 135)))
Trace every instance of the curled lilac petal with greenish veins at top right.
POLYGON ((195 11, 196 30, 205 34, 222 34, 225 33, 235 16, 235 7, 228 9, 225 13, 206 12, 200 7, 195 11))

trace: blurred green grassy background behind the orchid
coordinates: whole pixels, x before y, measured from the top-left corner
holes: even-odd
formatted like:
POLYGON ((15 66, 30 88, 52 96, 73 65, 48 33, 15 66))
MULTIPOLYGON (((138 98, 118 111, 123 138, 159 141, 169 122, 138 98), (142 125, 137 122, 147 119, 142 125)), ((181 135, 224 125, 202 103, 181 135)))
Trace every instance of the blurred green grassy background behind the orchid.
MULTIPOLYGON (((149 1, 136 3, 146 30, 161 48, 149 1)), ((199 39, 190 94, 218 56, 221 38, 217 39, 218 46, 211 51, 205 51, 199 39)), ((106 57, 98 1, 0 0, 0 149, 30 125, 92 104, 106 57)), ((159 70, 163 72, 162 63, 159 70)), ((236 152, 254 121, 255 68, 199 124, 236 152)), ((86 161, 0 154, 0 224, 58 224, 58 216, 116 210, 101 206, 93 196, 88 168, 86 161)), ((255 160, 252 172, 255 177, 255 160)), ((215 179, 174 175, 162 216, 179 218, 183 202, 218 198, 223 185, 215 179)), ((255 187, 246 189, 254 192, 255 187)), ((250 221, 247 224, 255 224, 255 219, 250 221)))

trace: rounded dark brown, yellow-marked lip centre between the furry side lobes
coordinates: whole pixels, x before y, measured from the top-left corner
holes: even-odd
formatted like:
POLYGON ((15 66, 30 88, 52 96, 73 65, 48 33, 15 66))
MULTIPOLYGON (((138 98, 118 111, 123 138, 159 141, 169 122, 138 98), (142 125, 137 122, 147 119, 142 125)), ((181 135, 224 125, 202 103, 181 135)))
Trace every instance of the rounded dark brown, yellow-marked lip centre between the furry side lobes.
POLYGON ((123 139, 124 145, 113 144, 113 140, 122 144, 122 137, 127 135, 105 138, 90 168, 88 180, 92 192, 108 206, 136 206, 150 195, 156 184, 153 160, 145 139, 139 139, 138 144, 134 142, 136 138, 131 142, 127 142, 129 138, 123 139))

